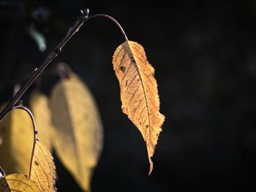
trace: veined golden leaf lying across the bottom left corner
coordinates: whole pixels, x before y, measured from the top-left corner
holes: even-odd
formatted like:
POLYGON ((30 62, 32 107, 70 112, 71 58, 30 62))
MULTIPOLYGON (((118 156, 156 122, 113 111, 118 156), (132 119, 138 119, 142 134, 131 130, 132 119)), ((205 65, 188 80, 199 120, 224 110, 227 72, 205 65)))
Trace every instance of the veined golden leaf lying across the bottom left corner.
POLYGON ((0 191, 41 192, 37 184, 23 174, 9 174, 7 177, 1 178, 0 191))

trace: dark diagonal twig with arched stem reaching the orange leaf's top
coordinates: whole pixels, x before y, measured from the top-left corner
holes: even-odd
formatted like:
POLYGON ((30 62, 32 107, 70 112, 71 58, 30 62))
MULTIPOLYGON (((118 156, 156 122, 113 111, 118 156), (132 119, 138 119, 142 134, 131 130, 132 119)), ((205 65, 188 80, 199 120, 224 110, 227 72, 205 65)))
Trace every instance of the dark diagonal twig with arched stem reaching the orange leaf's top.
POLYGON ((67 34, 65 37, 59 42, 59 45, 56 46, 56 48, 50 52, 47 58, 45 58, 45 61, 36 69, 34 69, 34 72, 32 72, 31 76, 26 80, 26 82, 21 86, 20 90, 15 94, 15 96, 12 97, 11 101, 7 104, 6 107, 0 112, 0 122, 3 120, 3 118, 7 115, 8 112, 13 110, 15 106, 17 106, 18 101, 20 100, 21 96, 27 91, 27 89, 30 87, 30 85, 39 77, 40 74, 45 70, 45 68, 50 64, 51 61, 53 61, 54 58, 56 58, 59 53, 61 52, 62 48, 66 43, 71 39, 71 37, 79 31, 80 26, 83 25, 83 23, 86 22, 86 20, 92 19, 92 18, 108 18, 109 20, 113 21, 113 23, 116 23, 118 28, 120 29, 122 35, 124 36, 125 40, 127 39, 127 35, 124 33, 124 29, 121 27, 121 25, 112 17, 105 14, 97 14, 97 15, 91 15, 89 17, 89 9, 81 9, 80 10, 80 16, 75 21, 75 23, 69 28, 69 31, 67 31, 67 34))

